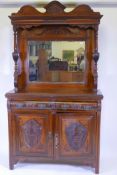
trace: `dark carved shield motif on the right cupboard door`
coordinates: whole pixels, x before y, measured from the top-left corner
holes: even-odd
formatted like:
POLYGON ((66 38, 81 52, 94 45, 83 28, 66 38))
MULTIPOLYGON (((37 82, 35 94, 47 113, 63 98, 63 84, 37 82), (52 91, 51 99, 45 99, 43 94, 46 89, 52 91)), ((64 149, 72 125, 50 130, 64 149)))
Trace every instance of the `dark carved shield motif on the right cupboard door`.
POLYGON ((81 123, 71 123, 66 129, 66 138, 69 146, 78 151, 85 143, 87 137, 87 128, 81 123))

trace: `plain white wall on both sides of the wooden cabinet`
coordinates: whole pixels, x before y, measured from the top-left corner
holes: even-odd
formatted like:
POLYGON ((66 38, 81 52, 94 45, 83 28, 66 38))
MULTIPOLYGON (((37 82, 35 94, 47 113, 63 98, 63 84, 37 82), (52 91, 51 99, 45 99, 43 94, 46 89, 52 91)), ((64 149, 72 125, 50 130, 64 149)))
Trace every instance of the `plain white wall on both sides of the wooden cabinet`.
MULTIPOLYGON (((0 157, 8 152, 5 93, 13 88, 13 32, 8 15, 15 8, 0 8, 0 157)), ((102 91, 101 157, 117 156, 117 8, 94 8, 103 14, 99 27, 98 88, 102 91)), ((1 158, 0 158, 1 159, 1 158)))

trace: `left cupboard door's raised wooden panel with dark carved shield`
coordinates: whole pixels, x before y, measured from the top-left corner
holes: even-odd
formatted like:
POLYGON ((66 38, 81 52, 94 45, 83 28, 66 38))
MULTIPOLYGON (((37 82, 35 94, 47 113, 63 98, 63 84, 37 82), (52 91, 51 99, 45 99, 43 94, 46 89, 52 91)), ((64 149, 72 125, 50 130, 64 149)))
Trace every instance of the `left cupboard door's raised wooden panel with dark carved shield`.
POLYGON ((17 155, 53 155, 52 116, 46 113, 15 115, 17 155))

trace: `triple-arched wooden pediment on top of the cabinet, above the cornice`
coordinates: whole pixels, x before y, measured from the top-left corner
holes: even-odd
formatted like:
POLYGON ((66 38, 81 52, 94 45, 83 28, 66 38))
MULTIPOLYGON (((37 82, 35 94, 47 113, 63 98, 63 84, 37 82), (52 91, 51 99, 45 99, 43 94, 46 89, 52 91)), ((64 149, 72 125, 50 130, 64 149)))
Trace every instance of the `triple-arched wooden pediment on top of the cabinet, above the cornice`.
POLYGON ((88 5, 79 5, 75 9, 73 9, 71 12, 65 12, 64 9, 66 8, 63 4, 61 4, 58 1, 52 1, 49 4, 47 4, 45 7, 45 12, 42 13, 38 11, 35 7, 30 5, 25 5, 20 8, 20 10, 17 13, 13 13, 13 17, 17 16, 31 16, 35 18, 35 16, 41 16, 41 17, 47 17, 47 16, 66 16, 66 17, 101 17, 99 12, 94 12, 88 5))

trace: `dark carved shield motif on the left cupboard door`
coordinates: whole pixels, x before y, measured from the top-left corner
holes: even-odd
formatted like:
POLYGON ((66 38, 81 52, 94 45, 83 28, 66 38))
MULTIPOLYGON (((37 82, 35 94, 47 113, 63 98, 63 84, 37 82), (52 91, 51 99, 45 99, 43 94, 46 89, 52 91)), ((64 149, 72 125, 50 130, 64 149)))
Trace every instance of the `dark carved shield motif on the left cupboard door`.
POLYGON ((22 126, 25 144, 31 148, 40 144, 42 126, 35 120, 29 120, 22 126))

